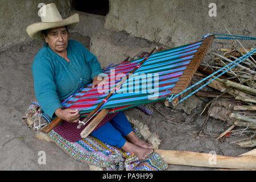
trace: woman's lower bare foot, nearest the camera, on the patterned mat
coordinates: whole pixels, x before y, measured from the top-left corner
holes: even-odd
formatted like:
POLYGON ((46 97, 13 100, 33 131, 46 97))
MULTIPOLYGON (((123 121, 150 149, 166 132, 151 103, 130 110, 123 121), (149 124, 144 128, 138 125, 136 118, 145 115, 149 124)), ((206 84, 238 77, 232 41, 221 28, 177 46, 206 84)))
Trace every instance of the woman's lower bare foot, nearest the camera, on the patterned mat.
POLYGON ((139 160, 146 159, 147 156, 152 153, 152 149, 145 149, 127 141, 123 145, 122 149, 126 152, 134 153, 138 156, 139 160))

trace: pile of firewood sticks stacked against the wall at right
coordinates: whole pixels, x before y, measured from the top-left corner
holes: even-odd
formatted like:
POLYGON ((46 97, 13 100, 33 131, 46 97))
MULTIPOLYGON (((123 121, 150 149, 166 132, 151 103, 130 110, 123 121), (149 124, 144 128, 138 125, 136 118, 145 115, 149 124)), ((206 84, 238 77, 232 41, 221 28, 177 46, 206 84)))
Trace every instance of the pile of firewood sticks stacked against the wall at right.
MULTIPOLYGON (((213 57, 210 63, 202 63, 196 75, 207 77, 225 65, 246 54, 250 49, 236 48, 218 49, 218 53, 210 52, 213 57)), ((237 67, 226 72, 208 86, 214 91, 200 91, 197 96, 212 97, 205 110, 208 117, 228 122, 230 127, 217 139, 237 135, 243 137, 234 141, 240 147, 256 146, 256 55, 243 61, 237 67), (238 128, 238 127, 241 127, 238 128)), ((226 71, 224 69, 224 71, 226 71)), ((205 122, 206 123, 206 122, 205 122)), ((204 123, 204 124, 205 124, 204 123)))

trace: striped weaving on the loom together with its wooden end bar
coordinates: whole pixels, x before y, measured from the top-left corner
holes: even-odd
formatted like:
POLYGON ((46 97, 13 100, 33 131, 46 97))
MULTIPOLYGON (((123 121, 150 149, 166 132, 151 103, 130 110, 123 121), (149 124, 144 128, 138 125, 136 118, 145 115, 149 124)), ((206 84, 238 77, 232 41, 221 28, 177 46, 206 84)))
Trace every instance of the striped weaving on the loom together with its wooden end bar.
MULTIPOLYGON (((115 93, 108 98, 108 100, 105 100, 105 98, 108 96, 108 92, 111 89, 105 90, 108 92, 99 93, 98 86, 92 89, 92 84, 89 84, 81 88, 72 97, 63 101, 63 107, 79 109, 81 117, 83 118, 88 117, 88 115, 104 101, 104 104, 97 111, 99 112, 97 115, 101 115, 101 113, 105 111, 102 117, 98 117, 97 122, 95 122, 94 119, 90 121, 90 123, 96 123, 94 125, 97 126, 101 119, 108 113, 115 113, 150 102, 166 100, 166 98, 170 97, 172 94, 180 93, 187 88, 213 39, 214 36, 208 36, 196 43, 156 52, 148 57, 140 67, 138 65, 144 59, 123 61, 118 65, 109 66, 104 70, 104 73, 108 75, 110 81, 105 84, 114 86, 117 85, 118 82, 121 82, 115 79, 118 74, 122 73, 127 75, 135 67, 138 69, 134 72, 134 75, 123 82, 119 90, 115 90, 115 93), (113 69, 115 70, 114 73, 112 72, 113 69), (158 76, 158 97, 154 99, 149 98, 154 97, 155 93, 152 94, 152 92, 155 88, 151 90, 147 88, 148 82, 152 84, 154 79, 145 80, 141 78, 143 75, 150 73, 153 77, 156 73, 158 76), (113 81, 112 78, 114 78, 113 81), (144 90, 144 92, 131 92, 134 90, 144 90)), ((176 98, 174 104, 177 104, 177 102, 179 102, 179 98, 176 98)), ((168 102, 166 102, 166 105, 168 105, 168 102)), ((93 129, 96 126, 93 126, 93 129)), ((89 133, 92 131, 92 129, 88 130, 90 130, 89 133)))

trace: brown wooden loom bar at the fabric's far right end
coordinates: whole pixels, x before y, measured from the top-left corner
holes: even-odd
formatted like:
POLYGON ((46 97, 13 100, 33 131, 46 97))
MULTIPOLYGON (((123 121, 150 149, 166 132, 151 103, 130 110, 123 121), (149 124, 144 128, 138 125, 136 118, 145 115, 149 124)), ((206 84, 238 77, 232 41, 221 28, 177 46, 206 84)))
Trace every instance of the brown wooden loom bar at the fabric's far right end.
MULTIPOLYGON (((201 61, 204 59, 205 54, 207 53, 210 45, 212 44, 214 39, 214 36, 208 36, 205 38, 199 47, 198 51, 195 53, 195 56, 191 60, 191 62, 188 64, 187 68, 183 72, 184 74, 179 78, 179 81, 177 81, 174 89, 172 89, 171 94, 179 94, 183 90, 185 90, 189 83, 191 82, 193 76, 195 75, 197 68, 199 68, 201 61), (186 80, 186 81, 184 81, 186 80)), ((173 105, 177 105, 179 103, 179 98, 175 98, 175 100, 172 102, 173 105)), ((170 106, 170 102, 166 100, 164 104, 168 107, 170 106)))

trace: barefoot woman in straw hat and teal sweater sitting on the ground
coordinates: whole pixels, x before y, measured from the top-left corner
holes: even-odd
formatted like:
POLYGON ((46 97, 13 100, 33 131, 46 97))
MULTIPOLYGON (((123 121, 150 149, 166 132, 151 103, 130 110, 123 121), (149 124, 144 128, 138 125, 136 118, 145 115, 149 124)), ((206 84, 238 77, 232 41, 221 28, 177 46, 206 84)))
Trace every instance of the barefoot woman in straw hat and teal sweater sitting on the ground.
MULTIPOLYGON (((79 110, 63 109, 60 101, 90 82, 93 82, 93 87, 97 86, 100 82, 97 80, 101 73, 100 63, 81 43, 68 40, 68 27, 73 28, 79 23, 78 14, 63 20, 54 3, 46 5, 45 10, 42 22, 27 27, 31 38, 46 42, 32 64, 36 100, 49 117, 77 123, 79 110)), ((141 160, 152 152, 151 144, 137 137, 122 111, 90 135, 132 152, 141 160)))

